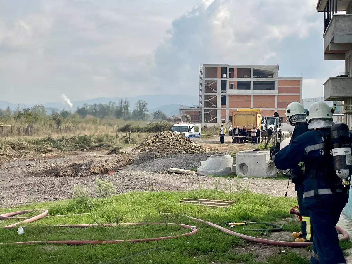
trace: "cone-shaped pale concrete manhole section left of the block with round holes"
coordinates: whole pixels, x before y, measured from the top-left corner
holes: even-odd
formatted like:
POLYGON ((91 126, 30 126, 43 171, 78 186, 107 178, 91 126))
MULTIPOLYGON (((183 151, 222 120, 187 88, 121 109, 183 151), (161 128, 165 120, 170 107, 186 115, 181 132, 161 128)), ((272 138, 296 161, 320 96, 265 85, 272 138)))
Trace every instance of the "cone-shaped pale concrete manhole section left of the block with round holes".
POLYGON ((207 158, 206 161, 201 161, 197 169, 198 175, 203 176, 227 176, 232 173, 233 157, 231 155, 215 154, 207 158))

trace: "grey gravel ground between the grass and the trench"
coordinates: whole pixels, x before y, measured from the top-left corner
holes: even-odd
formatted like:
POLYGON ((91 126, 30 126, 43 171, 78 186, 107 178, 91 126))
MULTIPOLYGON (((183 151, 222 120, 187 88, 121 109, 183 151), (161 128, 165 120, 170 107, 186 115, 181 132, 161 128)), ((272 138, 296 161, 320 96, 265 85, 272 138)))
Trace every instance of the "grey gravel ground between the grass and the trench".
MULTIPOLYGON (((84 158, 93 156, 84 154, 84 158)), ((171 167, 190 169, 198 166, 209 154, 177 154, 154 159, 152 153, 139 155, 136 162, 112 174, 82 178, 41 178, 22 177, 12 181, 1 181, 24 175, 29 170, 28 162, 12 162, 3 164, 0 168, 0 208, 24 205, 33 202, 44 202, 72 198, 71 190, 75 185, 82 185, 90 196, 96 196, 96 178, 108 179, 116 186, 118 193, 131 190, 150 190, 153 185, 155 190, 193 190, 199 188, 229 190, 230 182, 226 178, 213 178, 207 176, 190 176, 165 174, 171 167), (5 169, 6 168, 6 169, 5 169)), ((82 157, 75 156, 74 159, 82 157)), ((47 159, 49 164, 64 162, 67 158, 47 159)), ((284 195, 287 187, 286 180, 270 179, 232 179, 231 190, 241 188, 250 191, 284 195)), ((293 184, 290 184, 289 197, 295 197, 293 184)))

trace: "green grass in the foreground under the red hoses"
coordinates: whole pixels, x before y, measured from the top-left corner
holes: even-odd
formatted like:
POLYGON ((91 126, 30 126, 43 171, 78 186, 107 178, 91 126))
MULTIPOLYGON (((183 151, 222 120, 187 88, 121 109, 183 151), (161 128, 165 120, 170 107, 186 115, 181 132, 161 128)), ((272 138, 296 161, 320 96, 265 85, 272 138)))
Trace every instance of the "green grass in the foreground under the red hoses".
MULTIPOLYGON (((111 196, 107 199, 91 199, 84 195, 67 201, 40 203, 36 205, 11 208, 11 211, 24 209, 49 210, 49 215, 86 213, 89 215, 43 218, 33 223, 24 224, 25 233, 17 234, 17 228, 11 230, 0 229, 1 242, 29 241, 29 240, 55 240, 55 239, 136 239, 152 238, 167 235, 176 235, 188 232, 187 230, 170 225, 160 226, 122 226, 93 227, 93 228, 57 228, 57 227, 27 227, 58 224, 101 224, 108 222, 175 222, 195 225, 199 232, 190 237, 169 239, 150 243, 121 243, 105 245, 5 245, 0 246, 0 263, 35 264, 35 263, 246 263, 256 264, 254 255, 234 254, 232 247, 244 246, 244 240, 220 232, 199 222, 185 218, 185 215, 208 220, 226 227, 228 221, 261 221, 275 222, 290 216, 289 209, 296 205, 294 199, 286 197, 271 197, 269 195, 254 194, 249 191, 238 193, 225 193, 219 190, 198 190, 187 192, 131 192, 111 196), (233 200, 238 203, 229 208, 211 209, 203 206, 178 203, 182 198, 233 200), (156 207, 161 212, 171 212, 174 216, 161 219, 156 207), (132 256, 136 253, 163 247, 160 250, 150 251, 147 254, 132 256)), ((9 212, 7 208, 0 209, 1 213, 9 212)), ((15 220, 4 220, 1 226, 6 226, 15 220)), ((253 229, 260 225, 250 225, 245 228, 253 229)), ((288 221, 284 230, 293 232, 299 230, 299 225, 288 221)), ((235 231, 263 237, 259 232, 246 231, 236 227, 235 231)), ((270 239, 269 237, 266 237, 270 239)), ((347 245, 346 245, 347 247, 347 245)), ((296 253, 285 251, 268 258, 269 264, 308 264, 296 253)))

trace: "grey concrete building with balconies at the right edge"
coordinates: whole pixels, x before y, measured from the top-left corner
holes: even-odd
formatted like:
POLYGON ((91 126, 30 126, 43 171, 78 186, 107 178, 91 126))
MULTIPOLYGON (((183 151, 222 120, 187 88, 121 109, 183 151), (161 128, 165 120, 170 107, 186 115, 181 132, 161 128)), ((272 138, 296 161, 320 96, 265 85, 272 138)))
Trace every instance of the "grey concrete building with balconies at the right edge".
POLYGON ((339 113, 352 129, 352 0, 319 0, 316 10, 324 13, 324 60, 345 61, 345 72, 323 84, 324 100, 342 101, 339 113))

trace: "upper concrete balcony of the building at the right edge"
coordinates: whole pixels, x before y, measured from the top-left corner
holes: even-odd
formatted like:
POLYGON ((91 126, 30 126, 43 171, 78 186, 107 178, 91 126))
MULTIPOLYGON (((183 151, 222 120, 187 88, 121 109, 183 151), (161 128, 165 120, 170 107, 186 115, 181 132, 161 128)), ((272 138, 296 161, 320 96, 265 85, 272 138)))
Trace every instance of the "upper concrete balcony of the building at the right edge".
POLYGON ((352 14, 334 14, 323 38, 324 60, 344 60, 352 50, 352 14))

